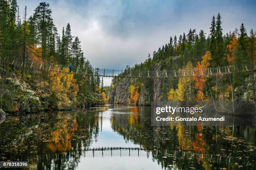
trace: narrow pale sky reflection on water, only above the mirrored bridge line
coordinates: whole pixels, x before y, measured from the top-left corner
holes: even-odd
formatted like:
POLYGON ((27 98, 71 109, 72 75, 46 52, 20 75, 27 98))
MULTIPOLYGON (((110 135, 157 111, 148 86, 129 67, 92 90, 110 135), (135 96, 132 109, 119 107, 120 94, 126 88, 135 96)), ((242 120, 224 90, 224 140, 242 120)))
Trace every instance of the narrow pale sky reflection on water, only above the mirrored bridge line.
MULTIPOLYGON (((120 108, 123 110, 125 108, 120 108)), ((108 109, 102 113, 99 113, 99 129, 101 129, 101 118, 102 118, 102 129, 98 133, 97 141, 93 139, 90 148, 96 147, 130 147, 138 148, 139 145, 134 145, 131 141, 125 141, 122 135, 114 132, 111 128, 110 118, 112 114, 119 114, 119 109, 108 109), (102 116, 102 117, 101 117, 102 116)), ((127 110, 127 109, 126 109, 127 110)), ((125 113, 125 112, 122 112, 125 113)), ((126 111, 127 113, 127 111, 126 111)))

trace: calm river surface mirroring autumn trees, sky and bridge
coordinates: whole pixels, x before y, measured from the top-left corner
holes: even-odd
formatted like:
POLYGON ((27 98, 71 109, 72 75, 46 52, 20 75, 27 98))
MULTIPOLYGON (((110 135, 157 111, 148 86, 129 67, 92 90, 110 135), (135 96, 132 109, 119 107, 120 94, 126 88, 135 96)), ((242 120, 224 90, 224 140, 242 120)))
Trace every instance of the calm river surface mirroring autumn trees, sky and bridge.
POLYGON ((255 127, 154 127, 150 114, 150 107, 108 105, 8 117, 0 160, 56 170, 255 169, 255 127))

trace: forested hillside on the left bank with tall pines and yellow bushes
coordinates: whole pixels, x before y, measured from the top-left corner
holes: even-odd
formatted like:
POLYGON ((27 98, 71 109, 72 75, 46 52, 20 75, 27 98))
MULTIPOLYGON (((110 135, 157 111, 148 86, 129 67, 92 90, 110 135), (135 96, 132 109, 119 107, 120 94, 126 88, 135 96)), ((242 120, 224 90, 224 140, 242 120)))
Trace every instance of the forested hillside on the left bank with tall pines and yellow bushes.
POLYGON ((0 0, 0 102, 4 111, 69 110, 104 102, 100 78, 92 75, 92 65, 71 28, 67 23, 58 32, 46 2, 28 16, 27 8, 19 9, 16 0, 0 0), (61 65, 66 71, 72 63, 87 69, 88 76, 74 75, 75 70, 69 74, 33 70, 33 65, 28 70, 32 60, 61 65))

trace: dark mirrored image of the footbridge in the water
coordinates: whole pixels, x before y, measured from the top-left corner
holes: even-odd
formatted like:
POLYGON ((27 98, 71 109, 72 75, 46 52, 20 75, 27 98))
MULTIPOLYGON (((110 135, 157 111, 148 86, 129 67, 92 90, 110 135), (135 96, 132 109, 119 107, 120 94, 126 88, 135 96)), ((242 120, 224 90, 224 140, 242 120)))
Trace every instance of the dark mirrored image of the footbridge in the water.
MULTIPOLYGON (((105 157, 105 156, 147 156, 151 153, 154 158, 160 158, 165 160, 166 158, 171 158, 171 160, 207 160, 209 162, 220 163, 225 162, 226 164, 230 163, 231 156, 227 154, 220 153, 207 153, 199 152, 196 150, 173 150, 173 149, 161 149, 161 148, 123 148, 123 147, 99 147, 99 148, 80 148, 78 150, 67 150, 67 152, 60 153, 42 153, 42 154, 29 154, 29 156, 36 156, 37 160, 42 160, 47 158, 59 159, 59 155, 62 155, 64 158, 69 156, 76 157, 77 154, 83 155, 85 157, 105 157), (46 156, 46 157, 45 157, 46 156), (186 158, 185 158, 186 157, 186 158)), ((167 161, 167 160, 166 160, 167 161)), ((170 161, 170 160, 169 160, 170 161)))

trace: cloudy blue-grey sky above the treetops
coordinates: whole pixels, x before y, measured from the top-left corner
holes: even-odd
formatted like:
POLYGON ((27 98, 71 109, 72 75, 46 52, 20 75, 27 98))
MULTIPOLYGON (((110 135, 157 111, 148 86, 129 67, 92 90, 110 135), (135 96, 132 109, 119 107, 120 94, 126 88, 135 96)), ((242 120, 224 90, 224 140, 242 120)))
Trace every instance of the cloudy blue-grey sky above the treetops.
MULTIPOLYGON (((18 0, 28 15, 41 0, 18 0)), ((59 33, 67 23, 81 40, 93 67, 124 69, 143 62, 170 36, 187 35, 189 28, 209 33, 213 15, 220 13, 223 33, 256 29, 255 0, 47 0, 59 33)), ((105 79, 110 84, 110 79, 105 79)))

